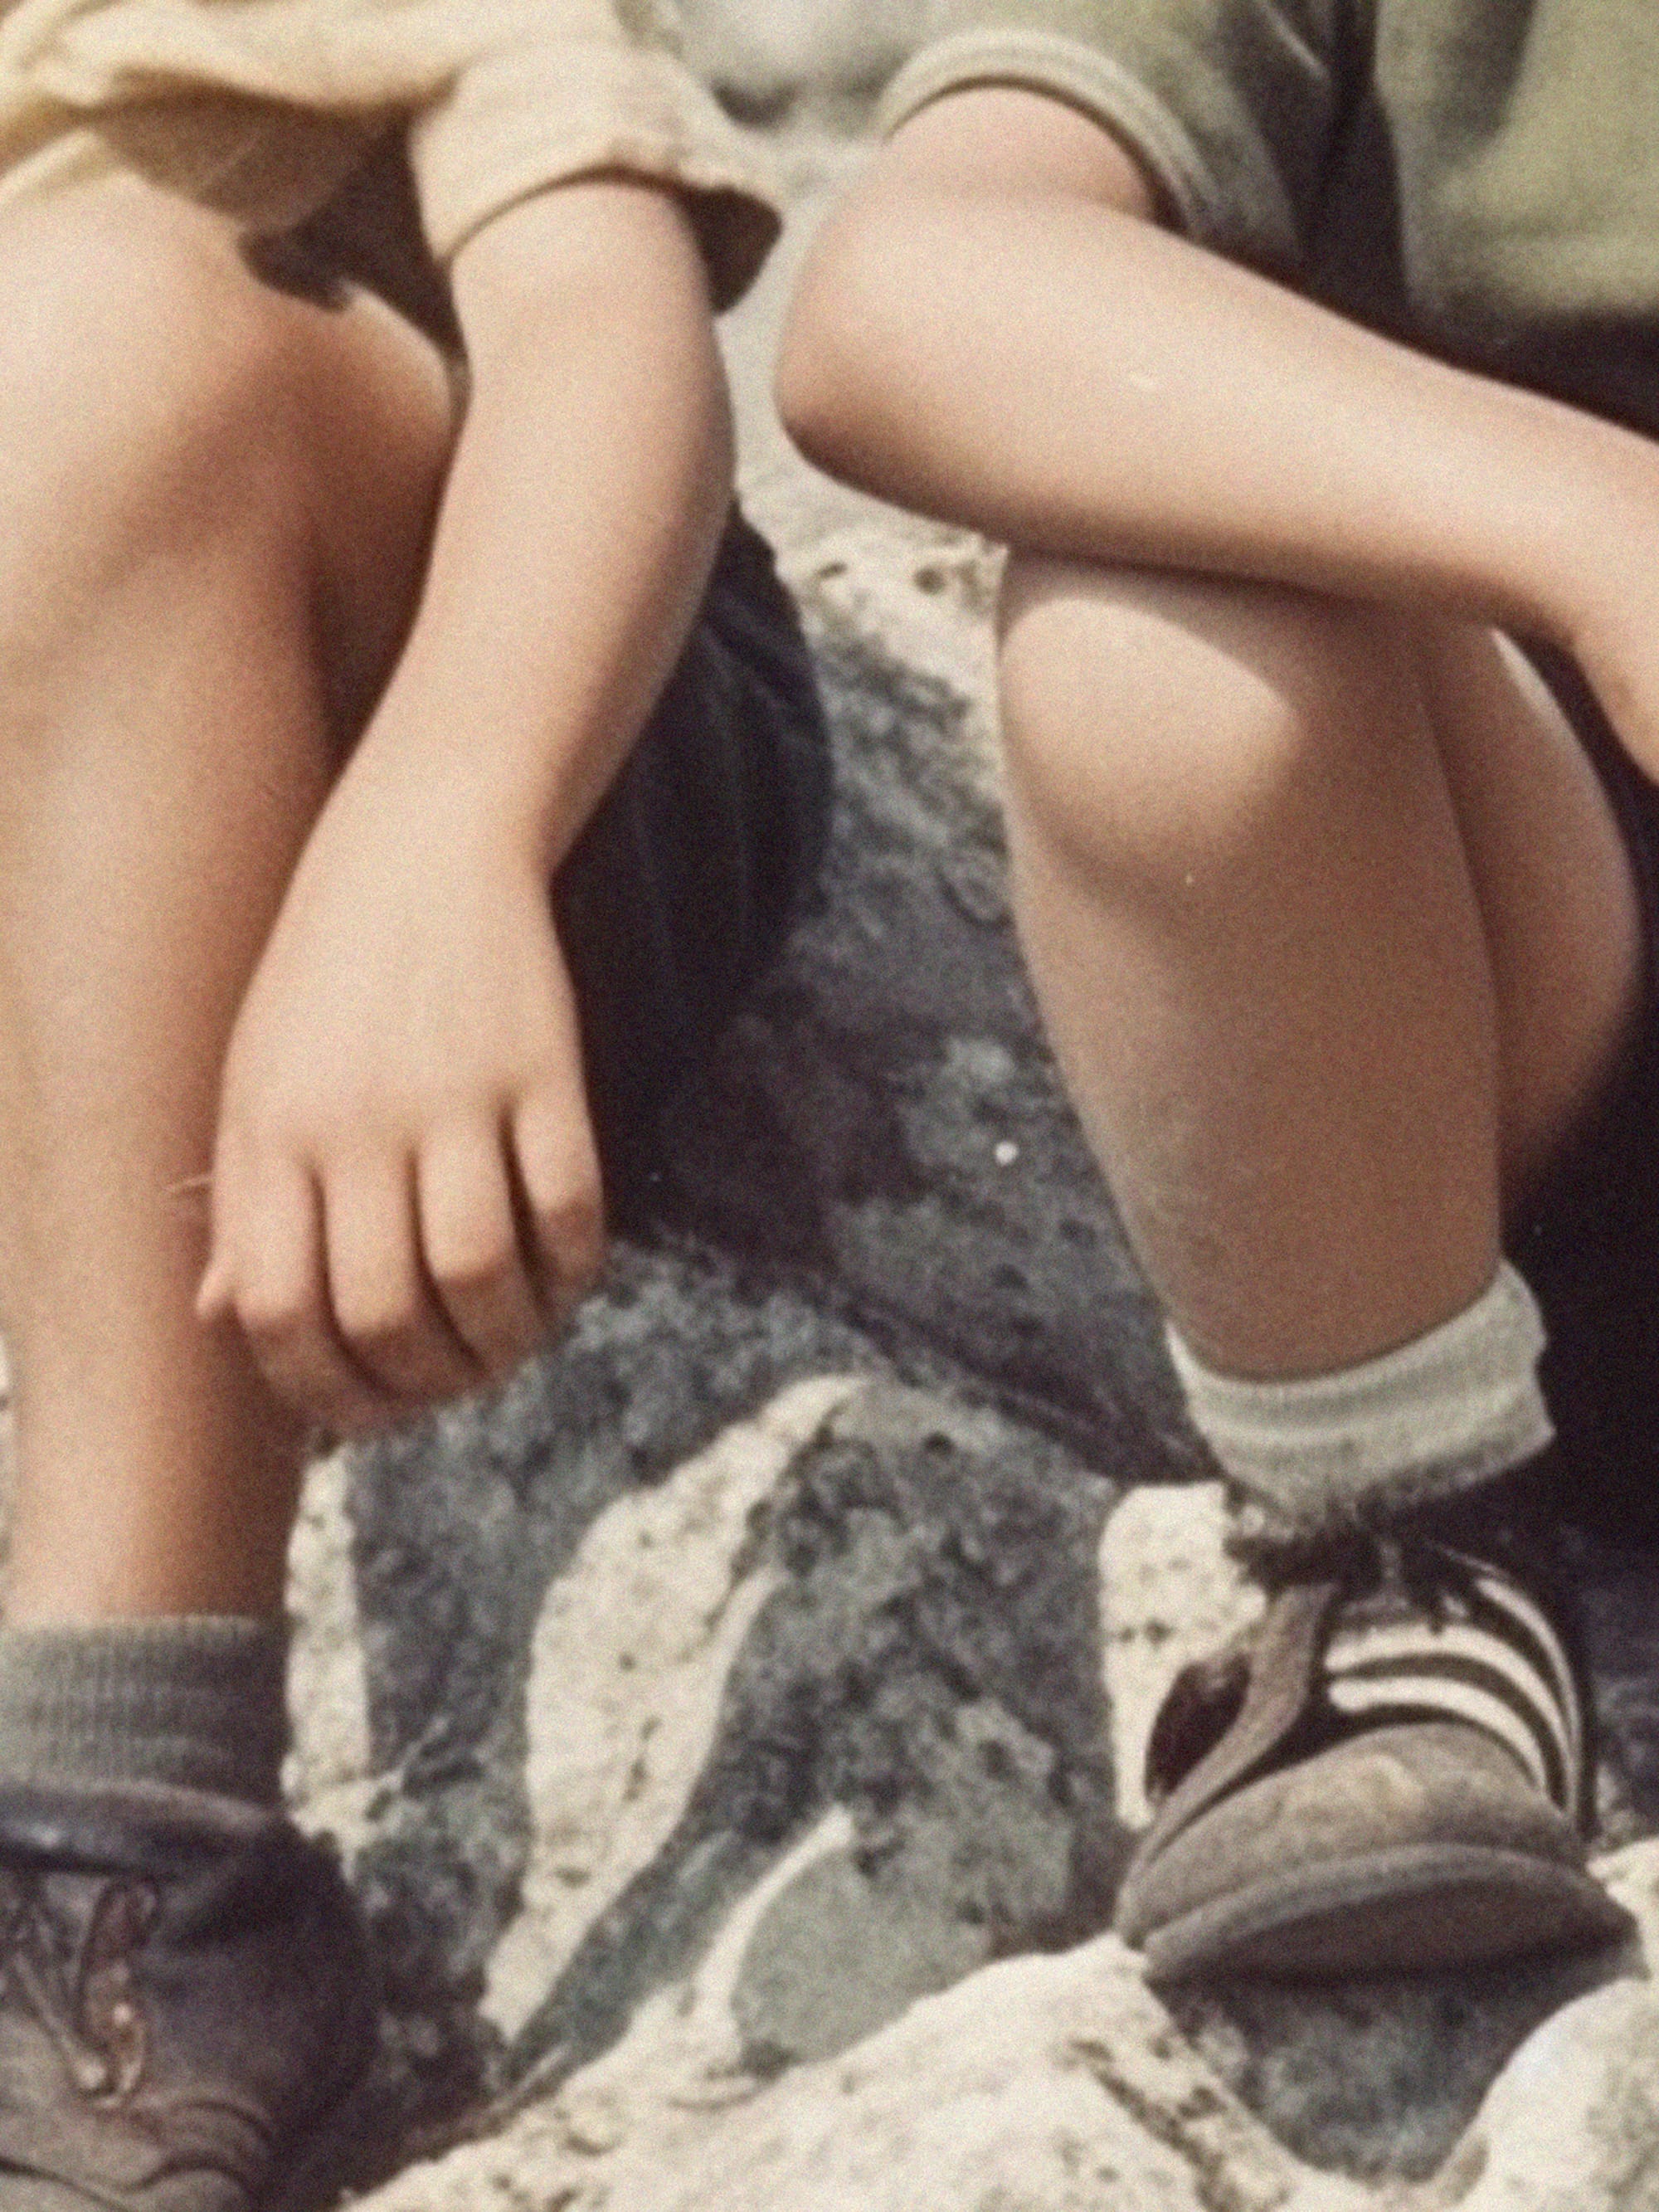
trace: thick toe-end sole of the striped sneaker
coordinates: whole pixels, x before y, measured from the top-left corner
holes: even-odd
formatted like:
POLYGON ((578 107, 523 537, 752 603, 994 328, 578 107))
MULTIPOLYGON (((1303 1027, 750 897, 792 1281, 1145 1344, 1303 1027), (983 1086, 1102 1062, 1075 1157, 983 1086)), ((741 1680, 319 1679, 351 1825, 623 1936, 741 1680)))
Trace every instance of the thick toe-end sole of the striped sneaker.
POLYGON ((1593 1951, 1630 1913, 1573 1867, 1471 1845, 1398 1845, 1214 1898, 1146 1936, 1148 1982, 1332 1980, 1593 1951))

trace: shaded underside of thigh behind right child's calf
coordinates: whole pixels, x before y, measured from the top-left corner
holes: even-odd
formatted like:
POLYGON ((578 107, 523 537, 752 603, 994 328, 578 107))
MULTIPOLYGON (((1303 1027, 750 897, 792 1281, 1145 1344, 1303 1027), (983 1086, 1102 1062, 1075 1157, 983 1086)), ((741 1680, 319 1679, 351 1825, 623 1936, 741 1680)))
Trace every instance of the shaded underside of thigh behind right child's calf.
POLYGON ((1595 1117, 1639 1022, 1639 852, 1610 737, 1515 644, 1431 626, 1422 670, 1491 953, 1513 1214, 1595 1117))

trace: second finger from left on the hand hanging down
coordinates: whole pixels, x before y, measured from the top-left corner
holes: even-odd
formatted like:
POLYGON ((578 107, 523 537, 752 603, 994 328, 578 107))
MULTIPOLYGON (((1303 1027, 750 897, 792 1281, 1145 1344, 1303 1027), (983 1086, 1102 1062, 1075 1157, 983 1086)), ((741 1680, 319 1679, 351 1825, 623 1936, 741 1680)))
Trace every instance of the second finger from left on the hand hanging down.
POLYGON ((427 1290, 407 1159, 338 1164, 323 1183, 323 1237, 334 1325, 372 1383, 405 1411, 478 1389, 478 1363, 427 1290))

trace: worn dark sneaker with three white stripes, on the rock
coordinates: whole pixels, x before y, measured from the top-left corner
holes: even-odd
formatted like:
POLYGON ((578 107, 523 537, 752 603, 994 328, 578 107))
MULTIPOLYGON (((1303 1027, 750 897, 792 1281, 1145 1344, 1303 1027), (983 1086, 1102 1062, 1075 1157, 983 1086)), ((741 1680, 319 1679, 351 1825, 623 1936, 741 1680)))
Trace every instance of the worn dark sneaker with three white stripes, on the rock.
POLYGON ((1517 1480, 1259 1553, 1261 1624, 1172 1686, 1117 1902, 1155 1982, 1588 1949, 1588 1681, 1517 1480))

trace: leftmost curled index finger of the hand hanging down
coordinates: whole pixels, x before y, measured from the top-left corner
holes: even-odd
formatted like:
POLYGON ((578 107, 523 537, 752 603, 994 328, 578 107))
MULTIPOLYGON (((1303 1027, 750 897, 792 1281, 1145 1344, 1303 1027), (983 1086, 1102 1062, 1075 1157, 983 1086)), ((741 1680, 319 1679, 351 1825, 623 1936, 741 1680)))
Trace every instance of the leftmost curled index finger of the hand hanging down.
POLYGON ((321 1197, 299 1161, 270 1161, 239 1179, 234 1243, 212 1270, 223 1312, 234 1314, 279 1398, 336 1436, 365 1436, 398 1416, 334 1334, 323 1279, 321 1197))

